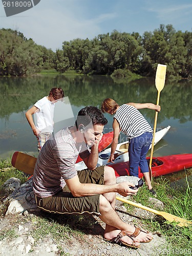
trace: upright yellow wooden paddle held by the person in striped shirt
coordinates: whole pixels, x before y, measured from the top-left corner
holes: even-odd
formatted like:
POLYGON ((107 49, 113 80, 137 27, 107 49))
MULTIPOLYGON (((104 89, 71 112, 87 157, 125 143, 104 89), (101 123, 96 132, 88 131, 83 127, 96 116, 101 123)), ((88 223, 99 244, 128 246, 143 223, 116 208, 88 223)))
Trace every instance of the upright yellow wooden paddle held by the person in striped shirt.
MULTIPOLYGON (((166 65, 161 65, 161 64, 158 64, 158 66, 157 66, 156 77, 155 77, 155 86, 158 91, 157 105, 159 105, 160 92, 163 90, 164 85, 165 85, 166 67, 167 67, 166 65)), ((158 111, 156 111, 156 113, 155 113, 152 149, 151 149, 151 157, 150 157, 150 164, 149 164, 151 180, 152 180, 152 159, 153 159, 153 151, 154 151, 155 132, 156 132, 156 126, 157 126, 157 116, 158 116, 158 111)))

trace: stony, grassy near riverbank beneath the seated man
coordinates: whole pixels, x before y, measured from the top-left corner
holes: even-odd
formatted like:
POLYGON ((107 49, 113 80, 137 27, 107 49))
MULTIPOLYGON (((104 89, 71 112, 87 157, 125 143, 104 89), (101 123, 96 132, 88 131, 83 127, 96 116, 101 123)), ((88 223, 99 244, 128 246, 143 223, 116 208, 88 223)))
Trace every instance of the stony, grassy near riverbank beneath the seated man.
MULTIPOLYGON (((23 173, 10 166, 10 162, 1 164, 1 182, 16 177, 25 182, 23 173)), ((192 168, 182 175, 190 176, 192 168)), ((181 174, 180 174, 181 176, 181 174)), ((175 181, 174 181, 175 182, 175 181)), ((172 182, 166 177, 154 179, 153 186, 157 190, 157 199, 163 202, 163 210, 188 220, 191 216, 191 183, 183 190, 170 187, 172 182), (177 207, 179 206, 180 209, 177 207)), ((1 184, 2 188, 2 184, 1 184)), ((192 237, 191 227, 178 227, 169 224, 162 218, 154 219, 153 214, 147 219, 148 212, 140 211, 137 207, 119 205, 118 215, 125 222, 136 224, 153 233, 151 243, 142 244, 141 248, 134 250, 104 242, 102 239, 103 223, 96 217, 50 215, 45 212, 28 211, 28 215, 5 215, 8 204, 5 204, 1 189, 1 224, 0 247, 2 255, 191 255, 192 237), (144 212, 144 213, 143 213, 144 212), (142 218, 141 218, 142 217, 142 218)), ((139 190, 137 196, 130 200, 142 205, 155 208, 149 199, 145 185, 139 190)), ((162 209, 159 209, 162 210, 162 209)))

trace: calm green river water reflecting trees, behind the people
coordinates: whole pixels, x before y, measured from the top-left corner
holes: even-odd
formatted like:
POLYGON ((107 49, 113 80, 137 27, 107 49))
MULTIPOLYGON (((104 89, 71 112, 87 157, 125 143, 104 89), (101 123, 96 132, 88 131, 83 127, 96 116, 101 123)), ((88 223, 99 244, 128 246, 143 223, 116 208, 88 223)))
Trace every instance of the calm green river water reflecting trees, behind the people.
MULTIPOLYGON (((73 125, 78 111, 86 105, 100 108, 105 98, 119 104, 127 102, 157 102, 155 78, 119 80, 106 76, 47 75, 34 77, 0 77, 0 160, 11 157, 14 151, 37 156, 36 138, 25 117, 25 112, 38 99, 49 94, 53 87, 65 91, 65 102, 55 105, 54 132, 63 126, 73 125)), ((170 125, 166 136, 155 146, 154 156, 192 153, 192 82, 188 80, 165 81, 160 94, 161 112, 158 113, 157 130, 170 125)), ((154 126, 155 112, 140 110, 154 126)), ((113 117, 105 114, 108 124, 104 133, 112 131, 113 117)), ((126 137, 120 135, 119 142, 126 137)))

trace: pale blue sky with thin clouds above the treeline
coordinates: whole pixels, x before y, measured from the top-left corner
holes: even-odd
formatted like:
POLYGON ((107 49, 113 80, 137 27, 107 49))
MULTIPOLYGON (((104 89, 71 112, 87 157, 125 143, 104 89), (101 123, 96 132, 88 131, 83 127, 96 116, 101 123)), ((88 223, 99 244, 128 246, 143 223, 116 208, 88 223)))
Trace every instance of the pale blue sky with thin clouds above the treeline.
POLYGON ((9 17, 2 2, 0 28, 22 32, 53 51, 62 49, 63 41, 93 39, 113 30, 143 35, 172 24, 176 31, 192 32, 192 0, 40 0, 9 17))

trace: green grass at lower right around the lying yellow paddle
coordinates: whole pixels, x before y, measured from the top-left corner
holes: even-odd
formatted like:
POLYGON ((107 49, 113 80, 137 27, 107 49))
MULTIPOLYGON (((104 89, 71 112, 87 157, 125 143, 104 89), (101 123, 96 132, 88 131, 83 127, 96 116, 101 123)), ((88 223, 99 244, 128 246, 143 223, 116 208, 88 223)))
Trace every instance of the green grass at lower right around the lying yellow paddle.
MULTIPOLYGON (((164 211, 169 214, 178 216, 186 220, 192 220, 192 188, 188 184, 187 188, 179 190, 179 188, 171 188, 169 181, 166 178, 157 178, 153 181, 154 189, 157 191, 157 199, 163 202, 164 211)), ((134 201, 142 205, 153 208, 153 204, 148 201, 151 197, 144 185, 139 190, 134 201)), ((129 212, 133 210, 133 206, 127 206, 129 212)), ((162 209, 161 209, 162 210, 162 209)), ((163 247, 157 248, 159 255, 191 255, 192 254, 192 226, 179 227, 176 223, 169 223, 161 218, 156 220, 142 220, 146 225, 147 230, 162 234, 166 238, 166 244, 163 247)))

